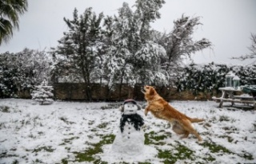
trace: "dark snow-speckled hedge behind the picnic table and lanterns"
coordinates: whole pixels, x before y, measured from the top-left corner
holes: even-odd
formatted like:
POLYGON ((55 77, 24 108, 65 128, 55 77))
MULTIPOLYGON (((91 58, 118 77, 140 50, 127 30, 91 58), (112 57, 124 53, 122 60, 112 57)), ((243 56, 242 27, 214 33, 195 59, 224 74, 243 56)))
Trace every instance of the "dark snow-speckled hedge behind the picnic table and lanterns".
POLYGON ((190 90, 194 95, 198 95, 198 92, 214 94, 218 92, 218 88, 225 87, 225 76, 230 71, 240 77, 241 85, 256 83, 256 64, 189 64, 178 74, 176 87, 178 91, 190 90))

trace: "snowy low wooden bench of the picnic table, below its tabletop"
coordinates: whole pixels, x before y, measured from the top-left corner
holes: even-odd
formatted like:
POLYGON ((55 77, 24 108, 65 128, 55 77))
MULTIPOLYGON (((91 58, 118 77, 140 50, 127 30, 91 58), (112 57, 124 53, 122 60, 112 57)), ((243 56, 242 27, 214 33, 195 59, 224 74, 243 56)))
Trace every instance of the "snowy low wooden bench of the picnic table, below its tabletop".
POLYGON ((231 102, 232 105, 234 103, 253 103, 254 104, 254 109, 256 110, 256 100, 254 100, 254 98, 252 96, 248 96, 248 97, 241 97, 241 96, 234 96, 235 99, 226 99, 226 98, 222 98, 222 97, 212 97, 212 100, 219 102, 219 107, 222 107, 223 102, 231 102), (239 99, 238 99, 239 98, 239 99))

